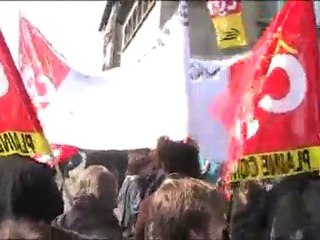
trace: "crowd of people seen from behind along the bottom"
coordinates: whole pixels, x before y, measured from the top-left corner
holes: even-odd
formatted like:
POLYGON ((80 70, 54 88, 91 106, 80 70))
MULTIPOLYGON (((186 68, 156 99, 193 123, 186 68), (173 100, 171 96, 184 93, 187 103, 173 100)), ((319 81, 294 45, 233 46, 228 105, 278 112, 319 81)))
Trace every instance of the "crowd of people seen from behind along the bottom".
POLYGON ((320 239, 317 173, 239 183, 227 199, 206 181, 190 139, 128 151, 124 173, 121 159, 91 156, 64 184, 47 165, 1 160, 0 239, 320 239))

